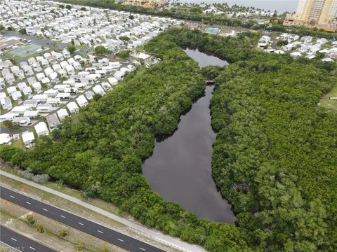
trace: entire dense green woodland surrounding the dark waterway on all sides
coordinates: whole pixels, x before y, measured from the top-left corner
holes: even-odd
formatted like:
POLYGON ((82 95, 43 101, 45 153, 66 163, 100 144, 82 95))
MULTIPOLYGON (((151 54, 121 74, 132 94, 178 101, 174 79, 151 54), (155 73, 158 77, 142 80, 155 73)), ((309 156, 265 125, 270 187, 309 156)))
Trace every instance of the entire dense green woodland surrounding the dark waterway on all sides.
POLYGON ((256 41, 251 33, 224 38, 169 29, 145 45, 161 62, 91 102, 76 123, 53 131, 54 143, 42 137, 29 151, 1 146, 1 158, 209 251, 336 251, 337 116, 317 106, 337 83, 336 62, 265 54, 252 49, 256 41), (231 64, 200 71, 186 47, 231 64), (236 226, 164 202, 141 173, 154 137, 176 130, 205 78, 216 78, 213 179, 236 226))

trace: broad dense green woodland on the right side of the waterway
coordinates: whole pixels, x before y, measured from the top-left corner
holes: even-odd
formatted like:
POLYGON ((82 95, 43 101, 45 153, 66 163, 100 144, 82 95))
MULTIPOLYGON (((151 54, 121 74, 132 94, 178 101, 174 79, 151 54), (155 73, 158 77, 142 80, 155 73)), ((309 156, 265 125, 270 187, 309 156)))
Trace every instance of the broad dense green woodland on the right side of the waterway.
MULTIPOLYGON (((336 250, 337 116, 316 106, 337 83, 336 62, 227 48, 232 39, 198 32, 166 35, 172 38, 232 62, 218 74, 211 101, 212 168, 249 244, 336 250)), ((241 39, 246 47, 252 38, 241 39)))

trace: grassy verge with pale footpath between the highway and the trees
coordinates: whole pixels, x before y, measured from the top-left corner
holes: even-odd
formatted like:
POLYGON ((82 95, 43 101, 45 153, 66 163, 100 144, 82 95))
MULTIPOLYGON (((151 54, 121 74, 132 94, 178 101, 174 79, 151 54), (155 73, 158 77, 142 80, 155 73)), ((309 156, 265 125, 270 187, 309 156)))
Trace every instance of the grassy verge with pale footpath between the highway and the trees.
MULTIPOLYGON (((158 238, 157 231, 148 230, 148 232, 150 232, 150 235, 144 232, 146 228, 137 223, 133 223, 132 217, 129 217, 128 219, 126 219, 126 218, 117 216, 117 214, 112 214, 111 211, 103 210, 103 209, 107 209, 110 207, 110 210, 114 208, 114 211, 118 211, 118 209, 110 203, 103 202, 101 200, 96 200, 96 199, 85 200, 81 198, 81 193, 79 191, 73 190, 70 188, 65 188, 65 187, 58 188, 58 185, 56 183, 47 183, 48 187, 46 187, 46 186, 42 186, 40 184, 34 183, 32 181, 27 181, 26 179, 22 179, 18 177, 19 179, 26 181, 26 183, 22 183, 21 181, 11 179, 8 176, 18 177, 16 175, 15 170, 8 169, 8 168, 4 169, 3 167, 1 167, 0 181, 1 181, 1 184, 3 184, 4 186, 11 187, 18 191, 23 190, 23 193, 27 193, 29 194, 29 196, 36 197, 43 202, 48 202, 49 204, 53 204, 55 207, 59 207, 60 209, 70 211, 72 214, 77 214, 83 218, 87 218, 89 220, 95 221, 97 223, 105 225, 107 228, 111 228, 112 230, 117 230, 118 232, 122 232, 125 235, 134 237, 136 239, 140 239, 149 244, 154 244, 154 246, 162 248, 166 251, 181 251, 181 249, 178 249, 177 245, 171 244, 169 243, 169 241, 165 241, 165 240, 158 238), (8 173, 6 174, 4 170, 6 170, 6 172, 8 173), (9 174, 9 171, 11 171, 10 174, 9 174), (30 186, 32 184, 36 184, 39 187, 44 187, 46 190, 41 190, 39 188, 35 188, 34 186, 30 186), (60 196, 55 195, 54 193, 48 192, 48 191, 54 191, 54 190, 57 191, 57 193, 62 194, 67 198, 65 199, 64 197, 60 197, 60 196), (67 195, 62 192, 67 193, 67 195), (86 205, 86 207, 82 206, 81 204, 78 204, 79 202, 81 202, 81 204, 86 205), (90 202, 90 203, 87 203, 87 202, 90 202), (103 204, 104 207, 102 205, 99 205, 96 207, 93 204, 93 202, 94 204, 103 204), (98 210, 98 211, 95 211, 93 209, 98 210), (120 221, 117 221, 117 220, 120 220, 120 221), (128 223, 128 225, 125 225, 124 223, 128 223)), ((172 237, 168 237, 168 239, 171 241, 176 241, 178 242, 178 244, 182 242, 172 237)), ((187 246, 188 245, 189 244, 187 244, 187 246)))

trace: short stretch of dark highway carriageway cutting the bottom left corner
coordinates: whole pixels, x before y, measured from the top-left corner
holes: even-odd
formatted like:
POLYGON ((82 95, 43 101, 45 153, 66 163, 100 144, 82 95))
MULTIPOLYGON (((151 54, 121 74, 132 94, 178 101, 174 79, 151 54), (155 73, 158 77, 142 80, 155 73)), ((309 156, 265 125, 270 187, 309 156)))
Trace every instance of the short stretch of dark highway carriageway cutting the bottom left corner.
MULTIPOLYGON (((33 252, 55 252, 52 248, 44 246, 37 241, 19 235, 17 232, 1 225, 0 240, 4 244, 15 248, 16 251, 33 251, 33 252)), ((9 251, 9 250, 8 250, 9 251)), ((14 250, 13 250, 14 251, 14 250)))

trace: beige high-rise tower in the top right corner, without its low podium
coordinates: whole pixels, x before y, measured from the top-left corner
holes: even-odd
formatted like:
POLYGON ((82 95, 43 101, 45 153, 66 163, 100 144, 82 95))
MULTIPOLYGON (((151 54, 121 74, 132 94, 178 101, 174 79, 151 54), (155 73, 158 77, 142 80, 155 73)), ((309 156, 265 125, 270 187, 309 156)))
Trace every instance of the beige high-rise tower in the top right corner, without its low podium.
POLYGON ((336 17, 337 0, 300 0, 294 18, 322 25, 333 22, 336 17))

